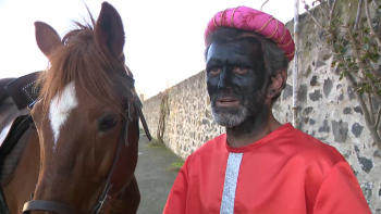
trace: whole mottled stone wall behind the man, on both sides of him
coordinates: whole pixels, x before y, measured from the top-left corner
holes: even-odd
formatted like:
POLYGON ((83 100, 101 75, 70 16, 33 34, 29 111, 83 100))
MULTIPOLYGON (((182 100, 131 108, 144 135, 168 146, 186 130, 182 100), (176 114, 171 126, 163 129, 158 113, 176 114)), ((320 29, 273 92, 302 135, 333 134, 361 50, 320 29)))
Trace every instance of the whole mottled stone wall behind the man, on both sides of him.
MULTIPOLYGON (((354 2, 339 2, 339 10, 354 14, 354 2)), ((322 15, 316 12, 318 20, 322 15)), ((336 67, 331 67, 332 55, 317 45, 321 32, 306 14, 300 16, 299 24, 298 128, 335 147, 345 156, 372 213, 381 214, 381 150, 370 137, 361 108, 348 84, 345 79, 339 79, 336 67)), ((292 34, 293 25, 293 22, 286 24, 292 34)), ((273 106, 275 118, 283 124, 291 123, 293 115, 292 67, 288 70, 286 88, 273 106)), ((163 141, 179 156, 186 159, 204 142, 224 133, 224 128, 212 119, 204 71, 167 92, 169 113, 163 141)), ((153 137, 161 97, 158 95, 144 102, 144 113, 153 137)), ((378 103, 373 103, 378 108, 378 103)))

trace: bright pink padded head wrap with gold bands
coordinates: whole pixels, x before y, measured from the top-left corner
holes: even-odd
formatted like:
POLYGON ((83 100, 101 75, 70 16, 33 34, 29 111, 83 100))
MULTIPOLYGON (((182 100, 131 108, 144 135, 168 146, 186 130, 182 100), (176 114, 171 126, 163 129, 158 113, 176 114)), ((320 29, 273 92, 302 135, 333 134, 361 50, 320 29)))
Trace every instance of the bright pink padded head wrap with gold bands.
POLYGON ((207 37, 220 27, 233 27, 262 35, 274 41, 285 52, 285 56, 290 61, 294 59, 295 43, 290 30, 272 15, 247 7, 218 12, 207 25, 204 35, 205 42, 207 42, 207 37))

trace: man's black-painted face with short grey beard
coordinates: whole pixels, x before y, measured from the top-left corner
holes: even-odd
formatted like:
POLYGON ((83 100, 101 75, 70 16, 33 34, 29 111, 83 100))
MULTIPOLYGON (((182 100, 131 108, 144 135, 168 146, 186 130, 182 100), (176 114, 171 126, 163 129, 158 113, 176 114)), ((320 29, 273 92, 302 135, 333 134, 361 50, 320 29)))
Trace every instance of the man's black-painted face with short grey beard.
POLYGON ((265 74, 257 39, 212 43, 207 55, 207 85, 214 121, 233 127, 255 117, 266 98, 265 74))

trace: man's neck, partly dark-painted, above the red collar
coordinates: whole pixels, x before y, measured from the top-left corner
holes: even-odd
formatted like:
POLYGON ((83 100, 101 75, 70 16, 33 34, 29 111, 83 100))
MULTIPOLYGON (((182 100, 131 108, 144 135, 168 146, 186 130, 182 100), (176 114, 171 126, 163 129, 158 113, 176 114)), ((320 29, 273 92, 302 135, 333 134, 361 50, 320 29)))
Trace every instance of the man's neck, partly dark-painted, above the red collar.
POLYGON ((238 126, 226 127, 228 143, 235 148, 246 147, 281 126, 282 124, 273 117, 271 110, 263 109, 256 117, 249 117, 238 126))

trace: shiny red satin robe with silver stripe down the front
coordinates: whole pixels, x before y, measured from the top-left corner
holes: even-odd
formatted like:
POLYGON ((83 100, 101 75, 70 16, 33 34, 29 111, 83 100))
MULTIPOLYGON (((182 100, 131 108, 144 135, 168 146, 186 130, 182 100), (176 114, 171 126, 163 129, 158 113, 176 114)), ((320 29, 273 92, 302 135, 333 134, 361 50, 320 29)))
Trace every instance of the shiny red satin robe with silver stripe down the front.
POLYGON ((346 160, 285 124, 244 148, 223 134, 190 154, 164 214, 371 214, 346 160))

